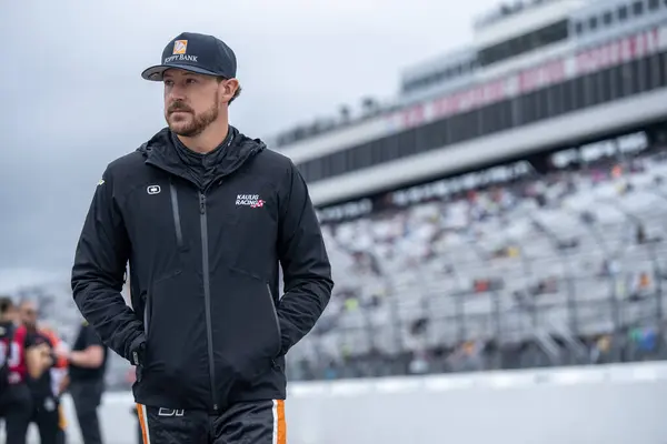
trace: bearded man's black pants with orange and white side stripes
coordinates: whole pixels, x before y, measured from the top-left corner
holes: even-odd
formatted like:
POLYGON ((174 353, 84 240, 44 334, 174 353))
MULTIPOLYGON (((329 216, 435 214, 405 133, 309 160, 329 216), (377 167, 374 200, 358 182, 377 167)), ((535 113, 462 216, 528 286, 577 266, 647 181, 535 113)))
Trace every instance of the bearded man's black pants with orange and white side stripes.
POLYGON ((218 416, 138 405, 143 444, 286 444, 283 401, 238 403, 218 416))

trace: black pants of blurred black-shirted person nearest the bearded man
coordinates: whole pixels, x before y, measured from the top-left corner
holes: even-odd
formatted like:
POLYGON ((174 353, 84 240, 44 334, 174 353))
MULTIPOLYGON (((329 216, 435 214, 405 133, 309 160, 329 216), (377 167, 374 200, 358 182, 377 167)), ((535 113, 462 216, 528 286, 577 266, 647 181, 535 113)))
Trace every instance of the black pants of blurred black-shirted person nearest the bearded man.
POLYGON ((69 392, 72 395, 77 420, 83 444, 102 444, 102 433, 98 418, 98 407, 104 392, 103 381, 72 381, 69 392))

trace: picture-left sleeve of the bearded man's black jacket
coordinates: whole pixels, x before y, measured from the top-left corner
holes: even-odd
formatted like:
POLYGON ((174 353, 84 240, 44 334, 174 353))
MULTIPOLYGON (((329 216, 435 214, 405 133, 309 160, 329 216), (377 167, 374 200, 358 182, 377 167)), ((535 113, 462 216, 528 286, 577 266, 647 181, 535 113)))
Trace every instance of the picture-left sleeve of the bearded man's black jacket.
POLYGON ((107 168, 92 198, 72 268, 74 302, 102 342, 135 361, 143 325, 121 295, 130 242, 107 168))

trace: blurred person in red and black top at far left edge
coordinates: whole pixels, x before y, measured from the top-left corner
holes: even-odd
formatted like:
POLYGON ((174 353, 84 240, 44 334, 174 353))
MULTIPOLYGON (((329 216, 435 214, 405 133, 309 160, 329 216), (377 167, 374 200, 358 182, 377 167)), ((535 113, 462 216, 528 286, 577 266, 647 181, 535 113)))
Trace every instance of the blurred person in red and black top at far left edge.
POLYGON ((33 412, 28 380, 39 379, 52 363, 43 344, 27 346, 27 330, 18 323, 12 300, 0 297, 0 417, 7 444, 26 444, 33 412))

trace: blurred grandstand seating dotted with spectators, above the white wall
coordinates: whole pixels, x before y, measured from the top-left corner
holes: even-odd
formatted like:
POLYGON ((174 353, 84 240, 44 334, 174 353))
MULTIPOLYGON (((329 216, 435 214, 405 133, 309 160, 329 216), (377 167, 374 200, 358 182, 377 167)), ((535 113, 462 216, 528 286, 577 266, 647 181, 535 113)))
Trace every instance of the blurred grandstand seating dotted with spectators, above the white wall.
POLYGON ((325 224, 335 295, 290 377, 657 357, 666 176, 653 150, 325 224))

